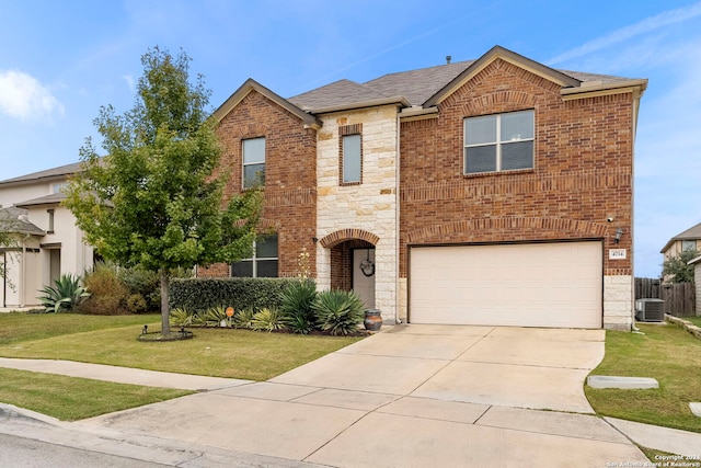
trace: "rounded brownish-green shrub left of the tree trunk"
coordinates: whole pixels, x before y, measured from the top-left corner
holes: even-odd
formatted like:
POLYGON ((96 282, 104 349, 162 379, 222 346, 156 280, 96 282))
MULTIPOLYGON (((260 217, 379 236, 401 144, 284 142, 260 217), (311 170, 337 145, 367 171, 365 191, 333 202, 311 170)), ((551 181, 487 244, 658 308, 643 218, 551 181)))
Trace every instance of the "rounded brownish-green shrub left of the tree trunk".
POLYGON ((93 271, 85 275, 85 286, 91 293, 90 299, 80 305, 83 313, 116 316, 128 313, 127 298, 129 289, 117 277, 116 269, 108 263, 96 263, 93 271))

